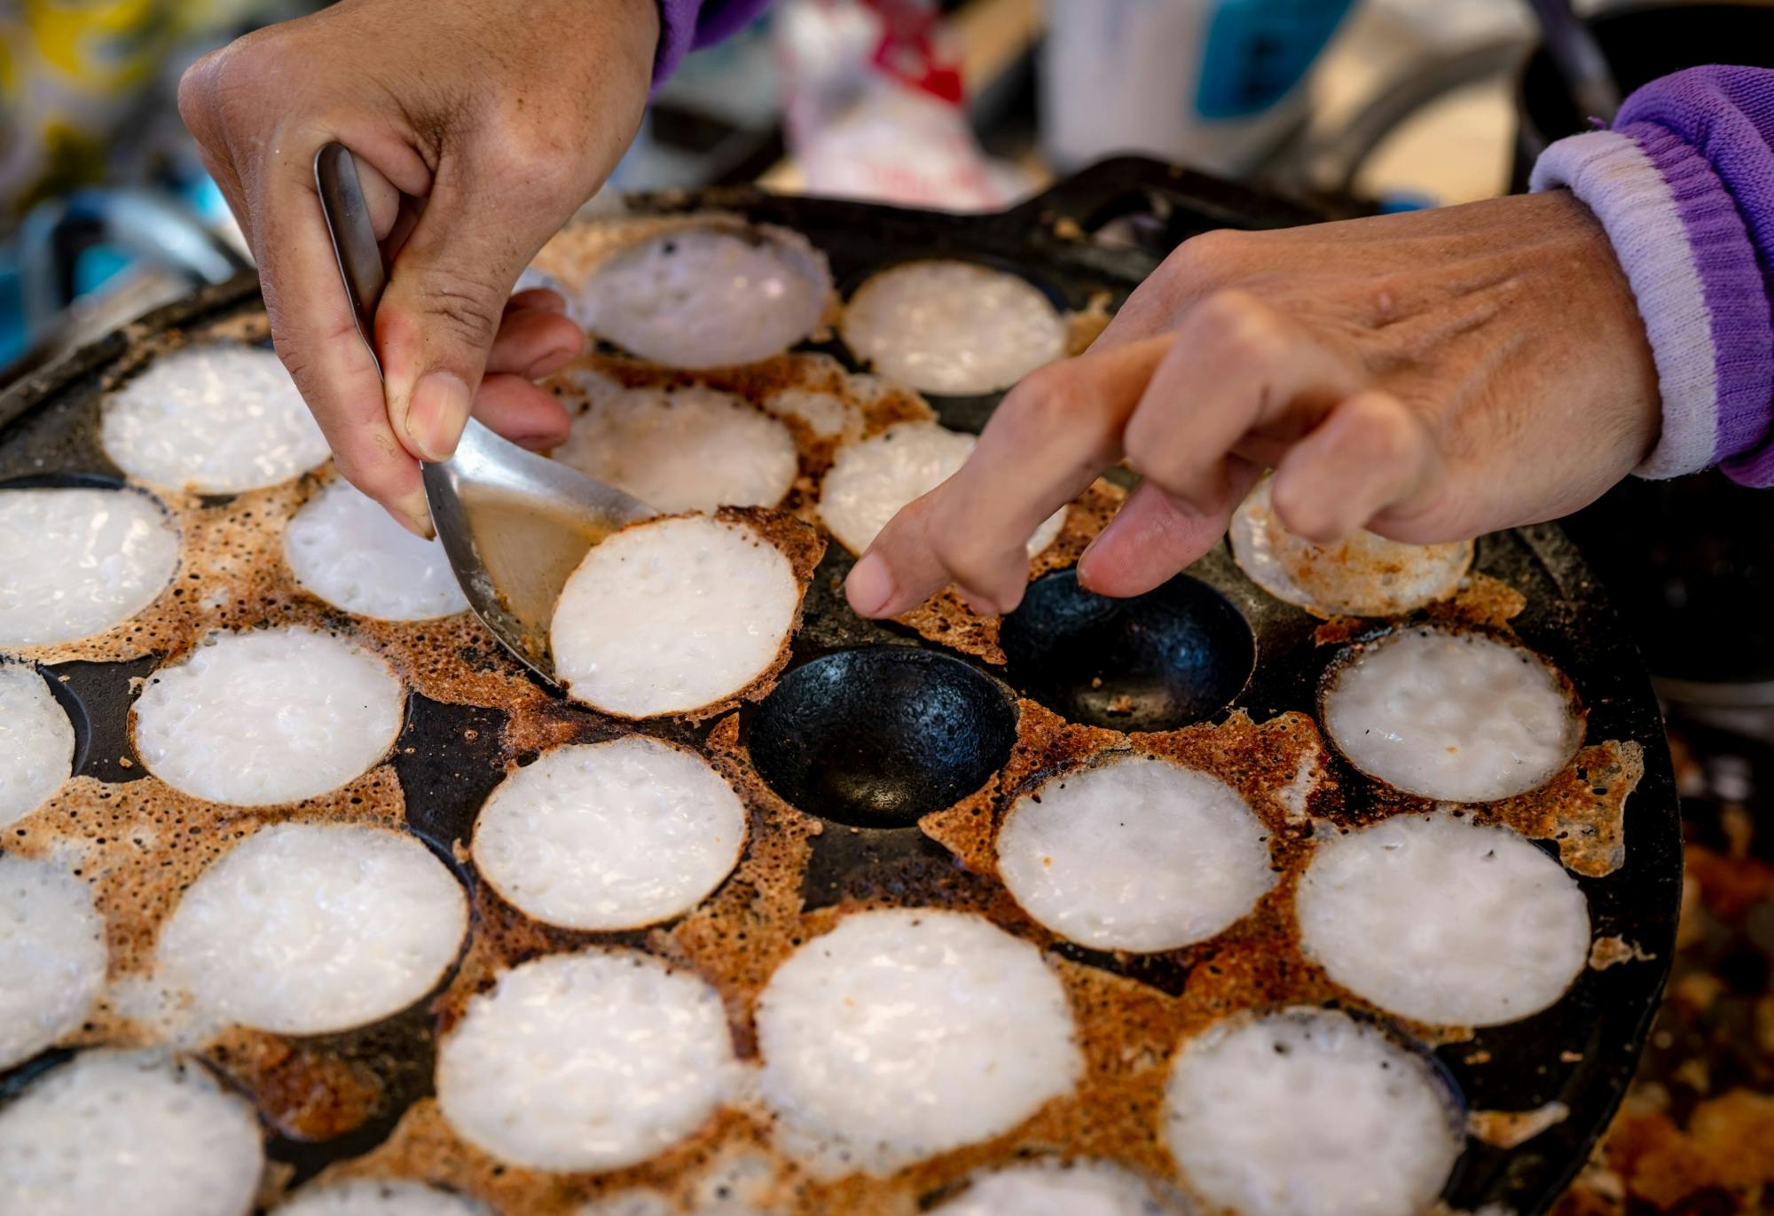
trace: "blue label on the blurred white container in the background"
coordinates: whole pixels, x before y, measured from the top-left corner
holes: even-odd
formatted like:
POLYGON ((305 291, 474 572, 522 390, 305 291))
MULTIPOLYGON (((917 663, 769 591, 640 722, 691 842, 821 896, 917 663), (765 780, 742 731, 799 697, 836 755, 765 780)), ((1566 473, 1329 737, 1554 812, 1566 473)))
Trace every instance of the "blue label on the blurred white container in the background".
POLYGON ((1355 0, 1221 0, 1208 21, 1196 110, 1245 119, 1288 96, 1355 0))

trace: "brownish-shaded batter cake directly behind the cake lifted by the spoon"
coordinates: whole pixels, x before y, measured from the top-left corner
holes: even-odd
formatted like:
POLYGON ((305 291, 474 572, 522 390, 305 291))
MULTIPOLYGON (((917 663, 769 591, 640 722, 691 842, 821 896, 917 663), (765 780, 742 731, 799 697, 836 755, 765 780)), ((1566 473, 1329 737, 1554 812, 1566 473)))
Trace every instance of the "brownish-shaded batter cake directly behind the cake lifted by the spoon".
POLYGON ((773 507, 800 470, 786 425, 701 385, 594 395, 553 457, 667 514, 773 507))

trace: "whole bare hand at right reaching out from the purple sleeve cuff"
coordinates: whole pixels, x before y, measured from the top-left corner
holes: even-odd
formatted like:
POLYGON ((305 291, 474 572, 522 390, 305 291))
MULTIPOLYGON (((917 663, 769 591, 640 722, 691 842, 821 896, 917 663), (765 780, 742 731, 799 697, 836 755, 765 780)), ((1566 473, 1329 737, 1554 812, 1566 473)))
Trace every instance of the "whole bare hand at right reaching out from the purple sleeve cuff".
POLYGON ((892 617, 954 583, 976 610, 1009 612, 1036 525, 1121 459, 1142 480, 1079 558, 1105 596, 1213 548, 1265 468, 1291 532, 1430 544, 1577 511, 1659 431, 1632 291, 1568 193, 1212 232, 1089 351, 1017 385, 846 594, 892 617))

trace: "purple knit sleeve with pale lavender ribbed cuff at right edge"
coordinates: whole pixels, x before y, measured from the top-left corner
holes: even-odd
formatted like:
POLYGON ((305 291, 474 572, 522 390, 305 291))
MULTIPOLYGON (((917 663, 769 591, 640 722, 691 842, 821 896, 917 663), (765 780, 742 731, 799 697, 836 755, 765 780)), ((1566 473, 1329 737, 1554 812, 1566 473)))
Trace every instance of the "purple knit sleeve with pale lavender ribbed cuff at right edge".
POLYGON ((1657 80, 1613 131, 1549 147, 1533 186, 1595 211, 1637 298, 1664 399, 1639 472, 1774 486, 1774 71, 1657 80))

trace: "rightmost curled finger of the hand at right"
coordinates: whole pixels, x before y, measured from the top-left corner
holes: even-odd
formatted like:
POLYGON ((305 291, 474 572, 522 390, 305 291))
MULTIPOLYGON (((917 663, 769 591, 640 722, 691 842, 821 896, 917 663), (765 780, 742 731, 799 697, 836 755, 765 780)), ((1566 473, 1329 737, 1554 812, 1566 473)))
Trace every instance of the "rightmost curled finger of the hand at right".
POLYGON ((1435 448, 1421 420, 1385 392, 1341 402, 1276 468, 1276 516, 1293 534, 1329 544, 1433 479, 1435 448))

